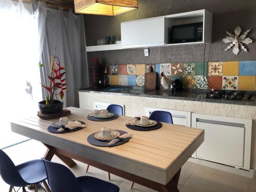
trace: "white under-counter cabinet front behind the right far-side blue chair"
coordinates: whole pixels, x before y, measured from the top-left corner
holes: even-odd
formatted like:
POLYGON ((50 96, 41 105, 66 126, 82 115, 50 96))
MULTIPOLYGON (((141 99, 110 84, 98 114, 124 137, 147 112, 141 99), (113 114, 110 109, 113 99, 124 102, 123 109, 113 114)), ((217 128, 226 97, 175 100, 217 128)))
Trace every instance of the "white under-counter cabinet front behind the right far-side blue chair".
POLYGON ((191 113, 186 111, 167 110, 159 108, 145 108, 145 115, 150 116, 153 111, 167 111, 172 114, 174 124, 191 126, 191 113))

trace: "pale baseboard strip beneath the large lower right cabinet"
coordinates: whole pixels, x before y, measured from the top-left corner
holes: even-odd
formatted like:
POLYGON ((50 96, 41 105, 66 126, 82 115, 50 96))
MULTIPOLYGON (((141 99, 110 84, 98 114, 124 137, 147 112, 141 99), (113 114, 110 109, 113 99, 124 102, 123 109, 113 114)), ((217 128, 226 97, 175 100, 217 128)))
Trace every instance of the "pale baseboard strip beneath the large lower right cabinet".
POLYGON ((197 163, 197 164, 200 164, 200 165, 203 165, 203 166, 211 167, 211 168, 216 168, 218 170, 223 170, 224 172, 240 175, 240 176, 243 176, 243 177, 252 178, 253 175, 256 176, 256 170, 254 170, 254 169, 250 169, 250 170, 238 169, 238 168, 234 168, 234 167, 231 167, 231 166, 228 166, 228 165, 214 163, 214 162, 210 162, 210 161, 206 161, 206 160, 202 160, 202 159, 197 159, 197 158, 189 158, 188 161, 193 162, 193 163, 197 163))

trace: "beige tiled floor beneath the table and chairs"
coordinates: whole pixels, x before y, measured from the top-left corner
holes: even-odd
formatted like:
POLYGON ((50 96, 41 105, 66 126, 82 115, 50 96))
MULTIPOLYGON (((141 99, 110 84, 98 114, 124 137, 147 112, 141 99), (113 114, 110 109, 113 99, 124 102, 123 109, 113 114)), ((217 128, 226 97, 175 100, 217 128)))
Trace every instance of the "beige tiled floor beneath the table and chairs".
MULTIPOLYGON (((15 164, 39 159, 44 156, 46 148, 41 143, 31 140, 4 150, 15 164)), ((54 156, 53 161, 61 163, 54 156)), ((108 180, 108 174, 95 167, 89 168, 89 173, 85 172, 86 164, 77 162, 77 165, 71 168, 72 172, 78 176, 89 175, 99 179, 108 180)), ((135 184, 130 188, 130 181, 111 175, 111 181, 120 187, 122 192, 142 192, 154 191, 144 186, 135 184)), ((256 176, 253 179, 222 172, 220 170, 205 167, 195 163, 187 162, 181 171, 179 186, 181 192, 255 192, 256 176)), ((8 191, 9 186, 0 178, 0 191, 8 191)), ((39 190, 43 191, 43 190, 39 190)))

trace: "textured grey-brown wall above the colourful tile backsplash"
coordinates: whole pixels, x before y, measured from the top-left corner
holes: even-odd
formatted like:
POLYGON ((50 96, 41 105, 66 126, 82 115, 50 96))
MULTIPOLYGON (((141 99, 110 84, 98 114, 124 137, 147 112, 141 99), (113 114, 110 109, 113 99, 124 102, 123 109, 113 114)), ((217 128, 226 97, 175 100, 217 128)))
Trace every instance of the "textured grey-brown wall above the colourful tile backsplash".
MULTIPOLYGON (((186 11, 206 9, 213 13, 212 44, 206 45, 206 61, 256 60, 256 43, 248 45, 249 52, 241 51, 237 56, 221 40, 225 30, 233 33, 240 25, 242 30, 256 39, 255 0, 138 0, 139 9, 115 17, 84 15, 87 46, 96 45, 96 39, 106 35, 116 35, 120 39, 120 23, 129 20, 150 18, 186 11)), ((145 57, 143 49, 114 50, 88 53, 88 61, 94 57, 103 64, 112 63, 164 63, 203 61, 204 45, 150 48, 150 56, 145 57)))

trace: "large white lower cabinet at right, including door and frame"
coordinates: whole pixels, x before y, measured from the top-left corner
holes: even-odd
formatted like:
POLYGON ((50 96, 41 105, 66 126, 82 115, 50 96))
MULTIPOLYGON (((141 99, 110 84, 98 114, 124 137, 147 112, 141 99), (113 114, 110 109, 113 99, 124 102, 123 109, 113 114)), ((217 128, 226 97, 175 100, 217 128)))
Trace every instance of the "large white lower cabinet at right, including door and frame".
POLYGON ((191 126, 205 130, 193 157, 249 170, 252 120, 192 113, 191 126))

